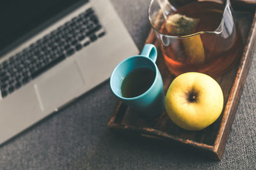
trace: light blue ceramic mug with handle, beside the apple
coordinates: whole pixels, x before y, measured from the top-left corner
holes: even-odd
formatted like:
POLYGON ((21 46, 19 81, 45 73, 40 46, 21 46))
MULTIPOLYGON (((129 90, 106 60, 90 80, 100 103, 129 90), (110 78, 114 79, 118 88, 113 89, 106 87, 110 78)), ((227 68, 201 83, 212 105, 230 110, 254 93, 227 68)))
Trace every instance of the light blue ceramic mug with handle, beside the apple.
POLYGON ((156 59, 156 46, 147 44, 144 46, 140 55, 129 57, 120 62, 110 77, 110 87, 113 93, 125 104, 148 117, 157 117, 164 111, 163 80, 156 66, 156 59), (142 67, 154 71, 152 85, 139 96, 124 97, 121 90, 123 80, 131 71, 142 67))

